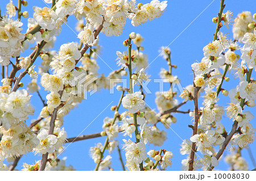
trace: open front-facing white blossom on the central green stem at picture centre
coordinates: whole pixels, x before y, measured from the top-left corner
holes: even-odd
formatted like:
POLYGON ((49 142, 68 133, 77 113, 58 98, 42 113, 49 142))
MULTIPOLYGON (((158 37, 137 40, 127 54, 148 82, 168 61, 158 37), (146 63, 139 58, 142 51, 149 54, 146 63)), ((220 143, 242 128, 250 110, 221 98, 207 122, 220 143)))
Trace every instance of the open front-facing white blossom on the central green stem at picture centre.
POLYGON ((143 95, 140 91, 134 92, 133 94, 126 94, 122 99, 122 105, 128 109, 130 113, 138 112, 145 106, 143 95))

